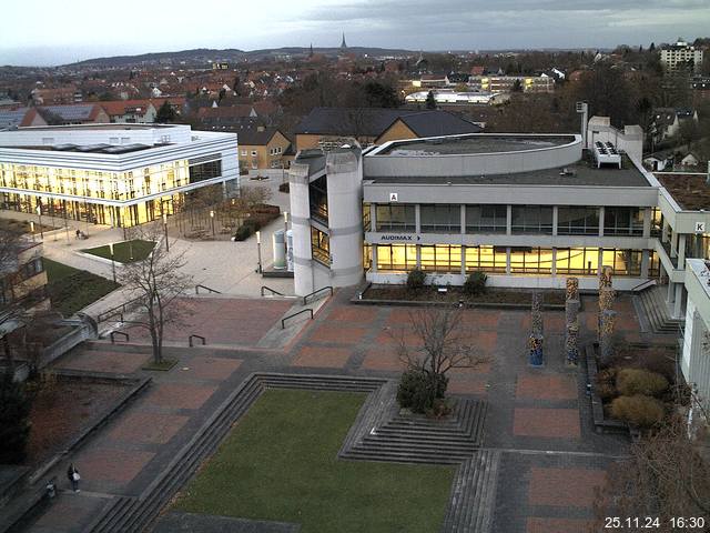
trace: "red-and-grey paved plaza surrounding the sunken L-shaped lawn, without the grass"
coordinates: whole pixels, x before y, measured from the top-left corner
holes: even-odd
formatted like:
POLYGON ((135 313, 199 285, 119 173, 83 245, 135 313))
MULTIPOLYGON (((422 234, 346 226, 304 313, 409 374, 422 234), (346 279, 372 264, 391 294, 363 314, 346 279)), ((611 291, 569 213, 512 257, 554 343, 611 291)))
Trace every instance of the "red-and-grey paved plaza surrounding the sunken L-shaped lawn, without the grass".
MULTIPOLYGON (((255 371, 396 378, 402 370, 398 339, 415 342, 412 310, 354 305, 353 293, 338 291, 283 350, 257 344, 292 301, 205 298, 192 302, 191 320, 210 328, 220 345, 169 346, 168 354, 179 359, 169 372, 140 370, 150 351, 133 339, 130 345, 93 342, 62 358, 58 366, 63 369, 135 372, 153 382, 55 469, 62 491, 29 531, 80 532, 110 499, 140 495, 255 371), (63 470, 69 461, 82 473, 79 494, 67 491, 63 470)), ((622 296, 617 309, 620 342, 657 340, 640 331, 630 300, 622 296)), ((596 301, 586 296, 582 339, 594 334, 595 310, 596 301)), ((449 392, 488 401, 484 447, 501 454, 491 531, 584 531, 592 517, 595 487, 604 483, 615 457, 626 453, 627 440, 594 431, 585 374, 562 362, 562 312, 545 312, 544 369, 527 365, 529 312, 466 310, 464 320, 487 362, 454 371, 449 392)))

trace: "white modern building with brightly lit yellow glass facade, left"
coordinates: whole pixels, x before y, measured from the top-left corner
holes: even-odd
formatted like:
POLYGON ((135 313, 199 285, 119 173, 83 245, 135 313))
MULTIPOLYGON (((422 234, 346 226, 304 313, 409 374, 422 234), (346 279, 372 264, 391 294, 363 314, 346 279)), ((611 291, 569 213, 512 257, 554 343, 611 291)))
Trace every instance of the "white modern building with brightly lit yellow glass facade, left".
POLYGON ((192 191, 239 190, 234 133, 189 125, 87 124, 0 131, 0 208, 131 227, 192 191))

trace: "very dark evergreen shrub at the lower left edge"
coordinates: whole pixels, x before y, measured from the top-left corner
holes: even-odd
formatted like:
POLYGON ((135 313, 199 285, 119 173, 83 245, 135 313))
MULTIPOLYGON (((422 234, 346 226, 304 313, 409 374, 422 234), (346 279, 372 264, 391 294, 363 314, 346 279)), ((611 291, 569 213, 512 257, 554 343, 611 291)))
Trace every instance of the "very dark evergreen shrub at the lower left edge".
POLYGON ((0 464, 21 463, 30 439, 30 401, 10 373, 0 376, 0 464))

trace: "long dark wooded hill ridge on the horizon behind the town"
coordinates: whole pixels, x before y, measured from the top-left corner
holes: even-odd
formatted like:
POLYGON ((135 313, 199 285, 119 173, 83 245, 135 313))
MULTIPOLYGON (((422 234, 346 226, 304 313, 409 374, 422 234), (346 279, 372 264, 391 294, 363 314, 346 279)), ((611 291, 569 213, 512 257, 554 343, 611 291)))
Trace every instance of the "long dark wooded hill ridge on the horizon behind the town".
MULTIPOLYGON (((151 63, 182 63, 183 61, 185 62, 185 64, 207 63, 209 61, 236 62, 244 60, 266 59, 277 56, 306 56, 308 51, 310 48, 303 47, 270 48, 251 51, 239 50, 235 48, 224 50, 197 48, 193 50, 181 50, 178 52, 154 52, 142 53, 140 56, 114 56, 110 58, 87 59, 84 61, 69 63, 63 67, 116 68, 151 63)), ((325 56, 335 56, 341 51, 341 49, 314 48, 313 51, 315 53, 322 53, 325 56)), ((347 53, 354 53, 355 56, 412 56, 415 52, 410 50, 352 47, 347 49, 347 53)))

